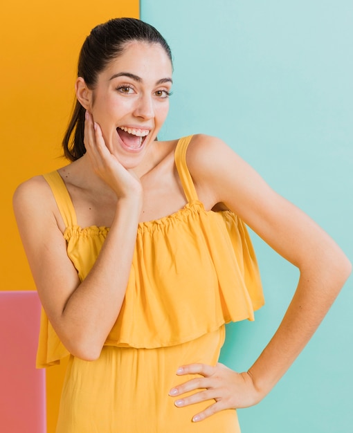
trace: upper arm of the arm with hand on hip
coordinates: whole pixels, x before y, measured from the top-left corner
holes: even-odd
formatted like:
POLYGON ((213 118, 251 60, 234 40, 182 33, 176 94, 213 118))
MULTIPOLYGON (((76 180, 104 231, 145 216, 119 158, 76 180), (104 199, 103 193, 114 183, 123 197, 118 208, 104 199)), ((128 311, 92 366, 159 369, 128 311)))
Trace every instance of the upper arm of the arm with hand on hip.
POLYGON ((187 162, 195 184, 210 191, 266 243, 301 270, 344 257, 336 243, 307 214, 276 193, 255 170, 224 142, 196 136, 187 162))

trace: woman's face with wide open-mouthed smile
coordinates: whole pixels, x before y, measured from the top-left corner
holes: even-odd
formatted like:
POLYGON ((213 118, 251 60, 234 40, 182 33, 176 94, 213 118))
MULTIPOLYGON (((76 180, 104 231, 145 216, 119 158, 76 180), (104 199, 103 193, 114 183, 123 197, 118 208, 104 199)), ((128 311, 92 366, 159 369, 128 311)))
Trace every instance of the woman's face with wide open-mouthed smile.
POLYGON ((108 149, 136 167, 168 114, 172 64, 159 44, 130 42, 98 75, 91 113, 108 149))

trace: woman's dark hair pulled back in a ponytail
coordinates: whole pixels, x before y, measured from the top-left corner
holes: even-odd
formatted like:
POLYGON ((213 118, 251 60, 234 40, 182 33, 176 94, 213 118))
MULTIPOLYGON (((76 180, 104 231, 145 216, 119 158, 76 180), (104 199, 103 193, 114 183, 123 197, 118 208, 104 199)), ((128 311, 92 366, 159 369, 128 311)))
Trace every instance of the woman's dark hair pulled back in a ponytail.
MULTIPOLYGON (((123 54, 128 42, 140 41, 160 44, 172 62, 168 43, 156 28, 139 19, 116 18, 100 24, 91 30, 80 51, 78 77, 82 77, 90 89, 94 89, 98 74, 111 60, 123 54)), ((76 100, 73 114, 66 129, 62 146, 64 156, 71 161, 84 155, 84 114, 85 109, 76 100)))

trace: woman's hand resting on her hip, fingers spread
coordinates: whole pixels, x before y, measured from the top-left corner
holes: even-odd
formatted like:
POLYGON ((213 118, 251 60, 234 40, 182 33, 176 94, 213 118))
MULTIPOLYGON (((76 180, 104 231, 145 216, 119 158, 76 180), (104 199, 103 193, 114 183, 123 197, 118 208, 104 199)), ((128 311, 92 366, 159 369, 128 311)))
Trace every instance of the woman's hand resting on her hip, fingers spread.
POLYGON ((195 414, 192 421, 202 421, 224 409, 237 409, 249 407, 259 403, 260 396, 248 372, 237 373, 223 364, 217 363, 215 367, 205 364, 189 364, 179 367, 177 374, 198 374, 197 377, 170 390, 172 397, 182 396, 185 392, 199 391, 184 398, 178 398, 174 405, 185 407, 206 400, 215 400, 199 414, 195 414))

